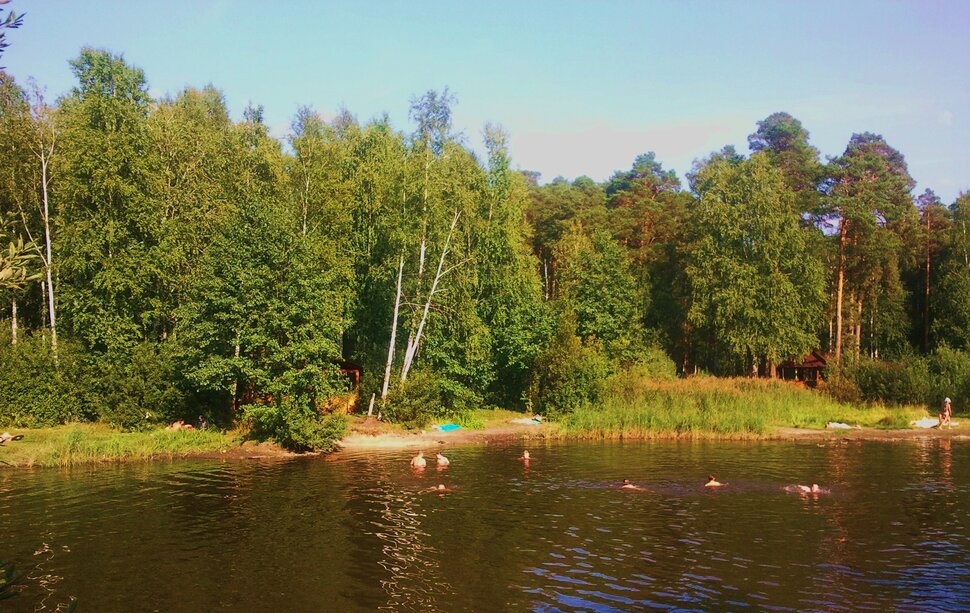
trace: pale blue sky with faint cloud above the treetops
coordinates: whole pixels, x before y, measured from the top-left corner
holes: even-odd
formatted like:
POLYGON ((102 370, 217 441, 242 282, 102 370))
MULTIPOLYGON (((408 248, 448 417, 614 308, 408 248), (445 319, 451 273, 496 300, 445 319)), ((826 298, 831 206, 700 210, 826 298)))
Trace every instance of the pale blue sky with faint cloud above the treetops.
POLYGON ((448 87, 455 128, 485 122, 513 164, 608 178, 640 153, 678 175, 791 113, 823 156, 882 134, 946 203, 970 190, 970 2, 619 0, 141 2, 11 0, 24 27, 2 62, 56 98, 82 46, 142 68, 156 96, 213 84, 237 119, 261 104, 285 136, 297 108, 388 113, 448 87))

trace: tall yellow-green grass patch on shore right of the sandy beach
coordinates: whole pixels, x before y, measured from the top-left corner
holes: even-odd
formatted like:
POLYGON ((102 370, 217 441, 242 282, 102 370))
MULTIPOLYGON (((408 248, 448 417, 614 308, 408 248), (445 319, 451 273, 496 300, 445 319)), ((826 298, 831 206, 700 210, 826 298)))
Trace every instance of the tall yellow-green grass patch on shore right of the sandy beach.
POLYGON ((875 428, 907 428, 923 407, 860 407, 788 383, 692 377, 611 382, 606 398, 560 420, 579 438, 748 437, 776 428, 824 428, 830 421, 875 428))

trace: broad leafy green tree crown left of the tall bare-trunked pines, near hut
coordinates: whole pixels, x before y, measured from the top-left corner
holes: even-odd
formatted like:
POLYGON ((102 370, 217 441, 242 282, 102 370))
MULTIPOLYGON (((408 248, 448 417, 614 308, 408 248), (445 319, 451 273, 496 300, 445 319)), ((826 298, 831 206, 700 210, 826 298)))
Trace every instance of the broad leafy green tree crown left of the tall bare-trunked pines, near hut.
POLYGON ((714 162, 700 179, 689 321, 736 362, 803 355, 818 343, 825 276, 791 191, 760 154, 714 162))

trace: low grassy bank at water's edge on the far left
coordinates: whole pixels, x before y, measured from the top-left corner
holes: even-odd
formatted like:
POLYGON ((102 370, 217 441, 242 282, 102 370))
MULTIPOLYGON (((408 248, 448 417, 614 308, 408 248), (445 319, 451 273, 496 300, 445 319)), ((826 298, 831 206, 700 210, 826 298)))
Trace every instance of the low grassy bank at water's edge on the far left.
POLYGON ((0 447, 0 462, 11 466, 73 466, 92 462, 148 460, 220 452, 238 447, 234 434, 215 430, 119 432, 99 424, 70 424, 12 430, 23 440, 0 447))

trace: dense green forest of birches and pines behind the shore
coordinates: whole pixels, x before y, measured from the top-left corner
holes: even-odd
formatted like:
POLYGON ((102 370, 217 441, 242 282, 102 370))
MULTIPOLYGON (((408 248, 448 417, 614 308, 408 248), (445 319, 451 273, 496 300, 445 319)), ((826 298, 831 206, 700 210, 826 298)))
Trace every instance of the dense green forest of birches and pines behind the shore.
POLYGON ((877 134, 823 160, 779 112, 686 184, 653 153, 540 184, 500 127, 485 159, 453 133, 447 90, 404 131, 301 108, 280 142, 212 86, 155 100, 118 55, 71 67, 56 102, 0 73, 0 423, 203 413, 312 447, 347 362, 402 422, 811 350, 847 400, 970 397, 970 195, 914 195, 877 134))

